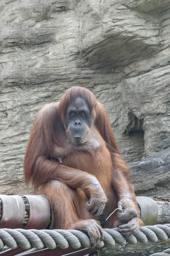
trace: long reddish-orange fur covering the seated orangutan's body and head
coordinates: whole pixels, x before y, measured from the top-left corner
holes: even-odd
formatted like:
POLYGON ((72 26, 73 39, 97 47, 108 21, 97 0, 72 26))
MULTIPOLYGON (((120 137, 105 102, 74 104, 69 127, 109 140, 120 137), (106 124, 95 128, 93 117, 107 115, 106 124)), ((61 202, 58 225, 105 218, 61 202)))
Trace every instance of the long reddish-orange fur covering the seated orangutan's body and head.
MULTIPOLYGON (((34 119, 26 148, 24 175, 27 184, 31 182, 35 191, 40 190, 49 198, 55 227, 69 229, 73 223, 92 217, 85 209, 89 174, 98 179, 108 197, 105 218, 127 193, 132 195, 133 207, 138 211, 130 170, 119 153, 108 113, 90 90, 72 87, 60 102, 44 105, 34 119), (73 151, 63 157, 60 164, 54 146, 67 151, 63 122, 68 105, 78 96, 85 99, 90 108, 94 119, 91 129, 99 137, 100 148, 94 152, 73 151)), ((115 213, 109 218, 107 227, 113 227, 116 221, 115 213)))

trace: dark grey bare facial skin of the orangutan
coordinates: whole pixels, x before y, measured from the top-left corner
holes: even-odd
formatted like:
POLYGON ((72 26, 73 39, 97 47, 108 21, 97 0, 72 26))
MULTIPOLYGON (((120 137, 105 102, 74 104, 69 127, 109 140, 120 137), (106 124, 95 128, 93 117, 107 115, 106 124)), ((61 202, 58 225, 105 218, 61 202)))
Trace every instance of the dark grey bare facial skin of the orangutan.
POLYGON ((69 128, 72 139, 79 144, 87 133, 87 129, 91 128, 93 118, 90 109, 82 98, 75 99, 71 102, 66 112, 65 125, 69 128))

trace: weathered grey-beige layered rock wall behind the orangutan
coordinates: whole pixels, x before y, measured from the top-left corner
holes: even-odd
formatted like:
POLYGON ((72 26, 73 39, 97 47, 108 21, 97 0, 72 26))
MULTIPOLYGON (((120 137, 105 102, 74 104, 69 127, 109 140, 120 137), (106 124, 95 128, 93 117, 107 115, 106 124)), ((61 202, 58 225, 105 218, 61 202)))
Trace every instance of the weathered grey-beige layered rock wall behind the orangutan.
POLYGON ((107 109, 136 193, 170 189, 170 1, 0 2, 0 193, 26 190, 38 109, 90 89, 107 109))

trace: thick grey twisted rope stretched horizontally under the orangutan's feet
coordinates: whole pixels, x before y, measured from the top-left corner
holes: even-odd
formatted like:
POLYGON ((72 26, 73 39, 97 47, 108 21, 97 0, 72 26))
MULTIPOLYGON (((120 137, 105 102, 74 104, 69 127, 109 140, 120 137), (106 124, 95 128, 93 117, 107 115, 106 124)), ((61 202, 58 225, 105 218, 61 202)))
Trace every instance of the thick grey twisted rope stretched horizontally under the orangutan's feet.
MULTIPOLYGON (((97 243, 97 247, 114 247, 115 244, 125 245, 140 242, 167 241, 170 238, 170 224, 141 227, 134 235, 125 238, 119 233, 119 228, 103 229, 104 240, 97 243)), ((89 237, 78 230, 23 230, 23 229, 0 229, 0 249, 4 246, 15 249, 18 246, 28 250, 31 247, 36 249, 55 249, 57 246, 67 249, 69 246, 78 249, 80 247, 90 248, 89 237)), ((169 250, 169 249, 168 249, 169 250)), ((167 256, 163 252, 160 256, 167 256)), ((158 254, 153 254, 155 256, 158 254)))

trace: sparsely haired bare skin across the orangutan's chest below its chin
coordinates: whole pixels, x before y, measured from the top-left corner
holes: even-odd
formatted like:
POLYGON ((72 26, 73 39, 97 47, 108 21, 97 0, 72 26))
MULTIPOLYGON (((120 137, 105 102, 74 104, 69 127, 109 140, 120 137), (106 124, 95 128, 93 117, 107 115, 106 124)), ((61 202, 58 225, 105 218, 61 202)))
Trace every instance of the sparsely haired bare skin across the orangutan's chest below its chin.
POLYGON ((95 152, 100 148, 100 140, 95 132, 91 132, 90 139, 82 145, 72 145, 70 142, 65 141, 63 147, 54 145, 54 157, 62 164, 62 158, 74 152, 95 152))

